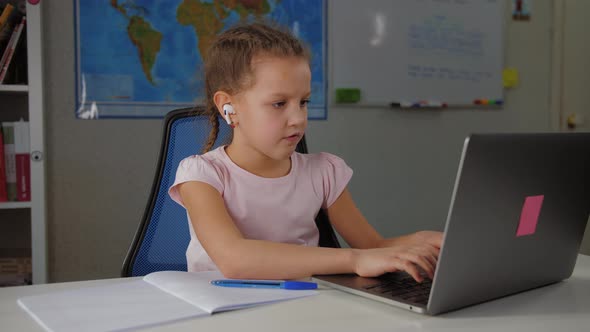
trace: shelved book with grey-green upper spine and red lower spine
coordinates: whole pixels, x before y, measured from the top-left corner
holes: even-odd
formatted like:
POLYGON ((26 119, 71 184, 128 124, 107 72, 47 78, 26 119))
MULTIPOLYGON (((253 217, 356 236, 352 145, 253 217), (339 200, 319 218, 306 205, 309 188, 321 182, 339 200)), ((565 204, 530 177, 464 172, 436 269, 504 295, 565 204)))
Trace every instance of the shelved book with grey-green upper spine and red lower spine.
POLYGON ((29 123, 14 123, 14 154, 16 164, 16 200, 31 200, 31 154, 29 146, 29 123))

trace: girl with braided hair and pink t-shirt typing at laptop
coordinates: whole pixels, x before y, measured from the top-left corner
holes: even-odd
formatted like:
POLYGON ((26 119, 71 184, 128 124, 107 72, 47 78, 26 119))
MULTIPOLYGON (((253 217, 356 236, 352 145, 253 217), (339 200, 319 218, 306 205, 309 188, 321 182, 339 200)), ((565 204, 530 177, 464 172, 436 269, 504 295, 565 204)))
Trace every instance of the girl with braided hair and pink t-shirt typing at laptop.
POLYGON ((403 270, 421 282, 422 270, 432 278, 441 233, 383 239, 355 206, 342 159, 294 152, 311 93, 310 55, 299 40, 260 23, 227 30, 205 58, 205 86, 213 125, 206 153, 180 163, 169 191, 188 212, 189 271, 296 279, 403 270), (233 138, 209 151, 218 114, 233 138), (317 247, 320 208, 352 248, 317 247))

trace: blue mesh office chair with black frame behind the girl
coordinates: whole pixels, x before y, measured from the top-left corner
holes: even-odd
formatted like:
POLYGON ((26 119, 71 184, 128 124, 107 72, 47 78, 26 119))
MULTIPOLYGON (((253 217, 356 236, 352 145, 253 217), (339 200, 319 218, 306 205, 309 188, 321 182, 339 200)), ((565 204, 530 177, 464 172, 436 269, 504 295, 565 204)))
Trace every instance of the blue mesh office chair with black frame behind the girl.
MULTIPOLYGON (((213 148, 227 143, 230 127, 219 118, 219 135, 213 148)), ((202 108, 184 108, 169 112, 164 119, 160 158, 152 191, 139 228, 129 248, 121 275, 144 276, 155 271, 186 271, 186 248, 190 241, 186 211, 168 196, 180 161, 201 153, 211 126, 202 108)), ((296 151, 307 153, 305 137, 296 151)), ((316 218, 319 245, 339 248, 340 244, 326 213, 316 218)))

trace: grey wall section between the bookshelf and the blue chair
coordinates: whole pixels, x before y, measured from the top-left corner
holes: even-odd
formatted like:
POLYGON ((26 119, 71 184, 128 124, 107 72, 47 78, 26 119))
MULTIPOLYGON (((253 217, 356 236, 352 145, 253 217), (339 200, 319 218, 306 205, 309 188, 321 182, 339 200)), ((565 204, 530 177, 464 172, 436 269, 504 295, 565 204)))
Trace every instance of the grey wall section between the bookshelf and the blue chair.
POLYGON ((75 119, 73 3, 43 7, 50 282, 119 276, 162 130, 160 119, 75 119))

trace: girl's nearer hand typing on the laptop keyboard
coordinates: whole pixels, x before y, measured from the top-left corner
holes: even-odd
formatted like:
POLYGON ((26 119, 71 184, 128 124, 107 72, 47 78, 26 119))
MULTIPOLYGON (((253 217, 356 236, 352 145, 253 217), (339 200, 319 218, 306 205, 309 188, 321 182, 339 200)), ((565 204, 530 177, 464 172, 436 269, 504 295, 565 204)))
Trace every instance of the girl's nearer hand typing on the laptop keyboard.
POLYGON ((388 272, 405 271, 417 282, 431 279, 438 260, 438 248, 430 244, 406 244, 386 248, 353 249, 353 267, 361 277, 377 277, 388 272))

